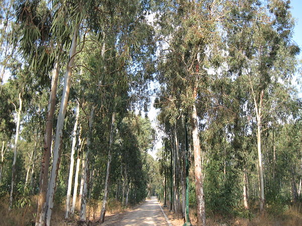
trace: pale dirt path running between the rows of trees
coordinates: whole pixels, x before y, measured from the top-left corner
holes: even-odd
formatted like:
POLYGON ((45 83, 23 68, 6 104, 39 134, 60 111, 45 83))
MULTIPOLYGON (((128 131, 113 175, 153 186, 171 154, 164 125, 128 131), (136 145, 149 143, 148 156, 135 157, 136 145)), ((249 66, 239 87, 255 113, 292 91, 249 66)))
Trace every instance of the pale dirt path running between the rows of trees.
POLYGON ((169 225, 161 207, 157 201, 157 198, 151 197, 146 200, 138 208, 133 209, 126 214, 120 216, 120 219, 114 220, 114 222, 105 221, 102 225, 169 225))

